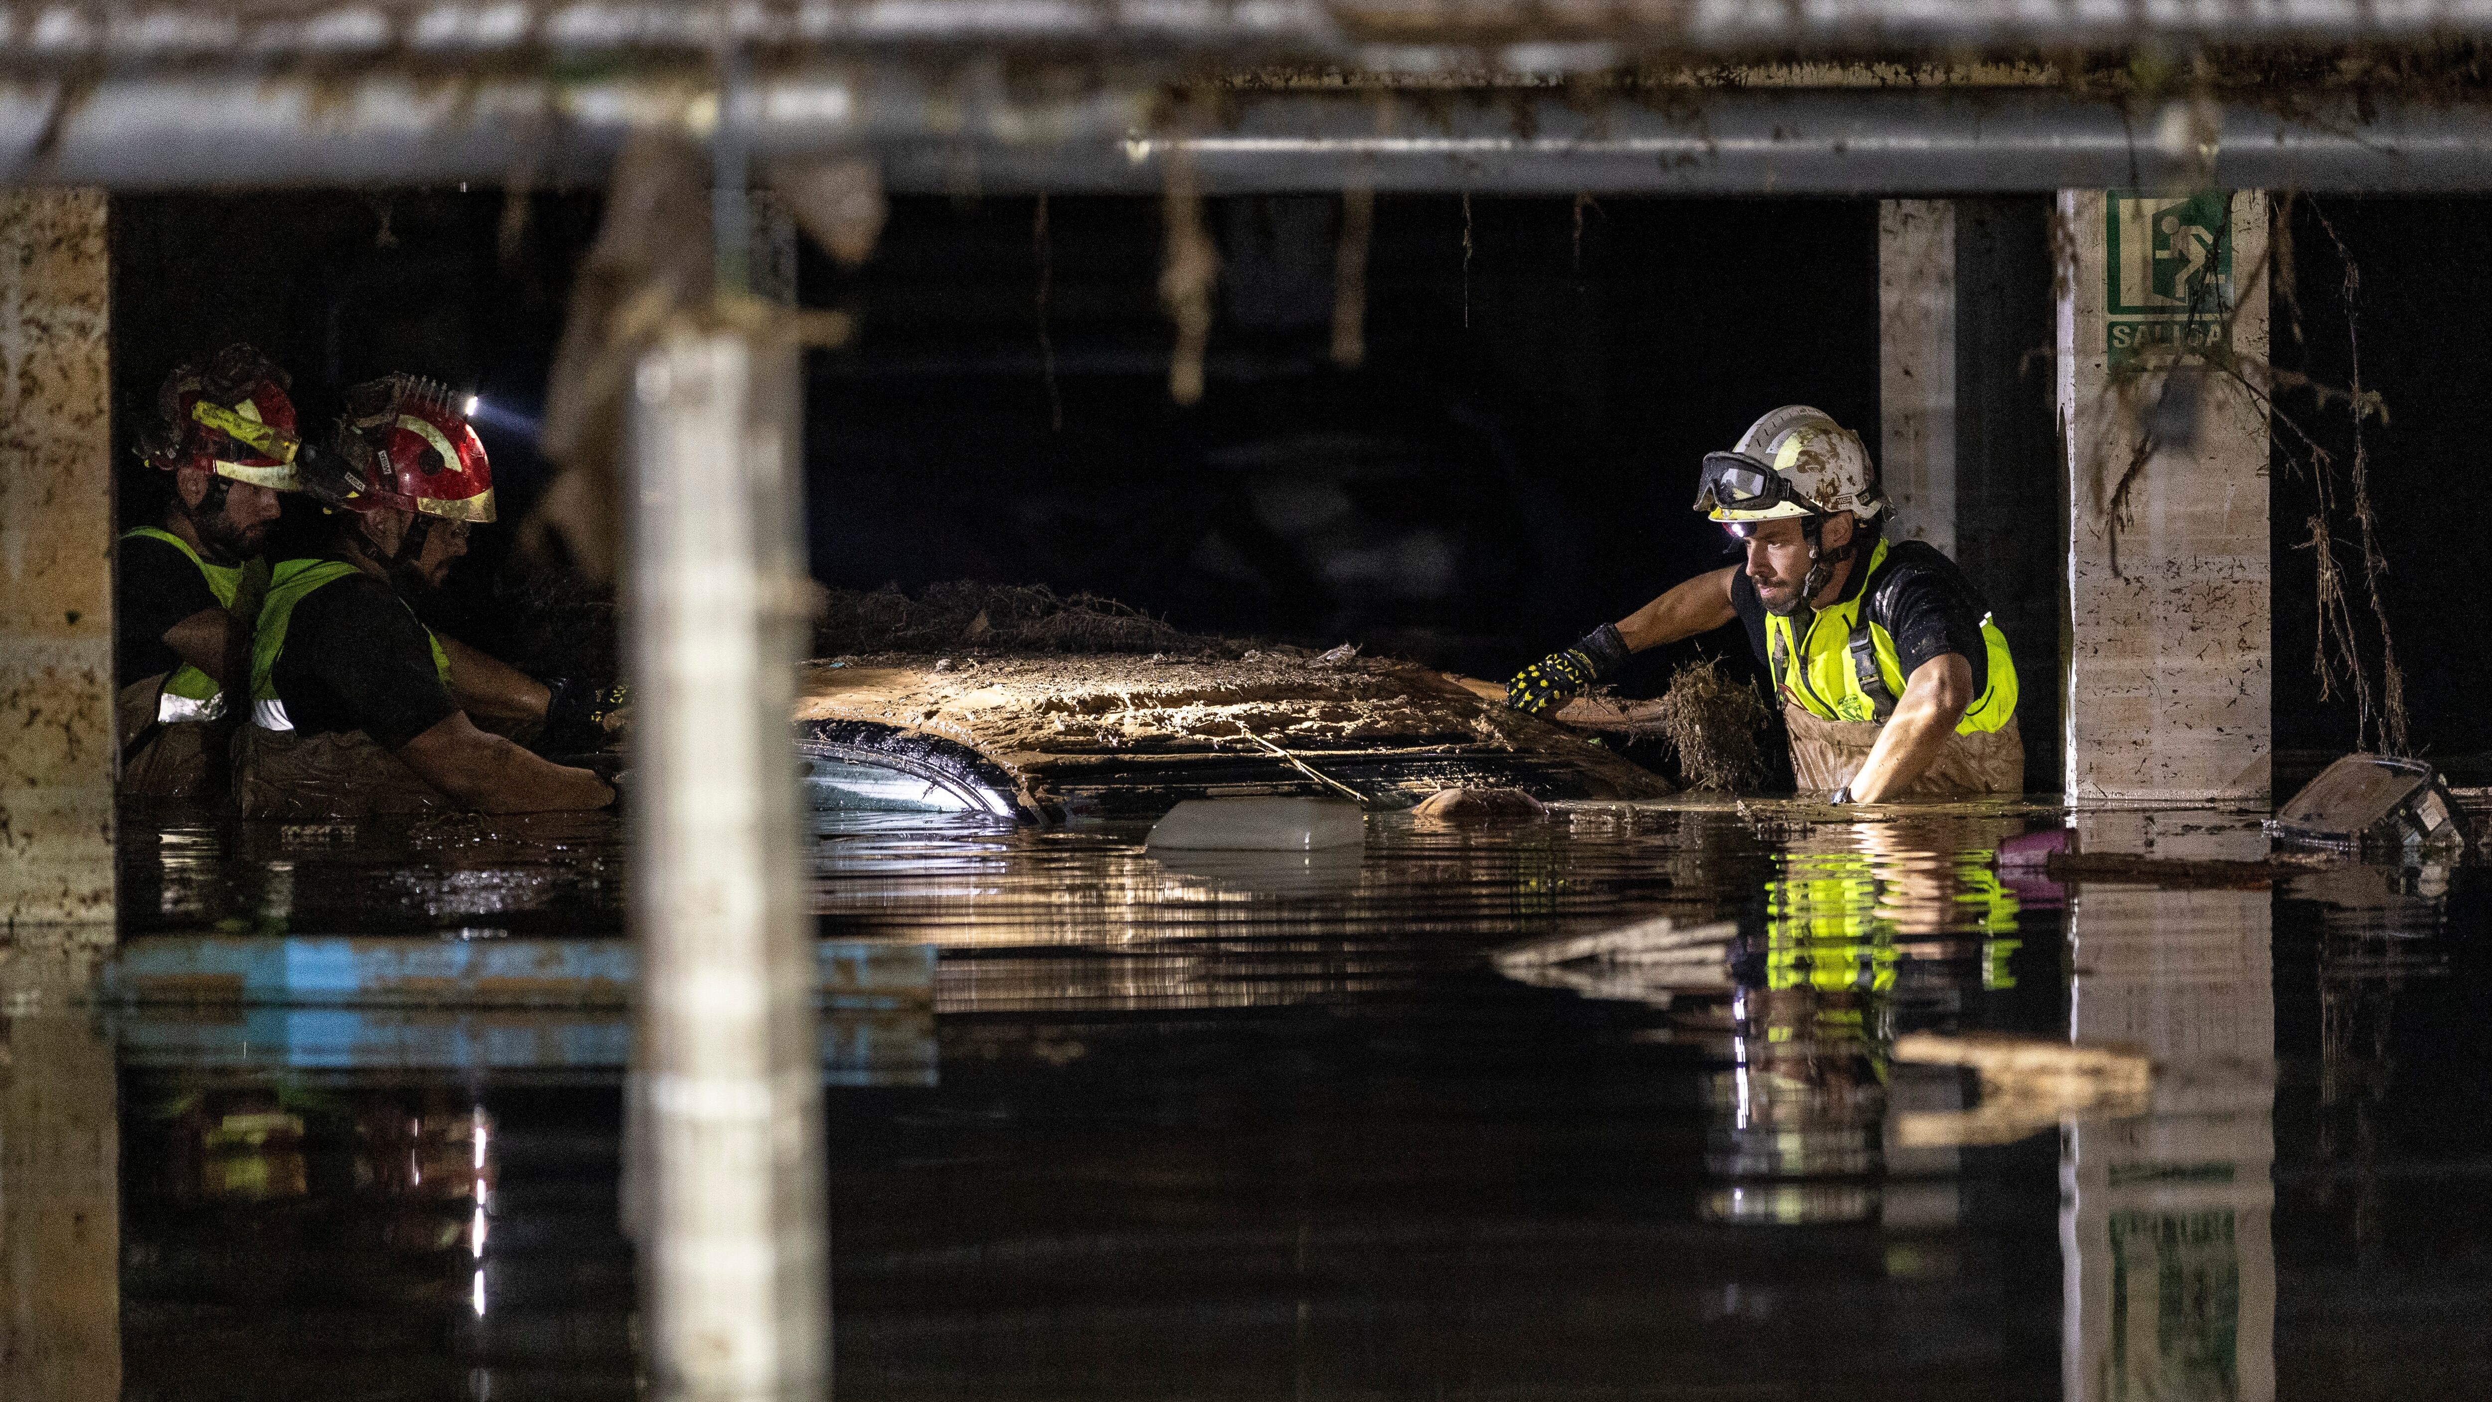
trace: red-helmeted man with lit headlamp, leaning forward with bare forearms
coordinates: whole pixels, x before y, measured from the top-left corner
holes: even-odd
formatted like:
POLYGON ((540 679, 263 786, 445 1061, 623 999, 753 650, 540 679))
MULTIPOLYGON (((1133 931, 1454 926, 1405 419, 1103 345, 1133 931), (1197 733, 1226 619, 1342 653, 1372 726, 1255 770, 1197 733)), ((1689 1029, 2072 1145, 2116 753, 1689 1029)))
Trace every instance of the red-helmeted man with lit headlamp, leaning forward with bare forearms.
POLYGON ((563 710, 548 687, 434 635, 406 603, 441 588, 468 528, 493 520, 493 468, 449 391, 411 376, 346 391, 336 453, 307 461, 304 491, 334 513, 331 535, 324 555, 269 578, 244 817, 611 804, 593 772, 476 725, 546 725, 563 710))

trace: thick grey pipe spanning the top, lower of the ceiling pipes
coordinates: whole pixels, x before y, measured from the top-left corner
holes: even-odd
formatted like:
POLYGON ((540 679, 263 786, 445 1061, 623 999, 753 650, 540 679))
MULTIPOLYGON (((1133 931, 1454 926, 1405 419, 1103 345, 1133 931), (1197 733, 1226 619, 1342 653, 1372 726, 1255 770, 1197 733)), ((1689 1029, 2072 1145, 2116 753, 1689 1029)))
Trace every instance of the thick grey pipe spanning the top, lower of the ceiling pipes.
MULTIPOLYGON (((1156 90, 1022 95, 987 72, 905 65, 758 75, 755 162, 872 154, 892 192, 1159 194, 1184 147, 1204 194, 1971 194, 2068 187, 2492 189, 2492 105, 2298 110, 2056 90, 1700 90, 1555 95, 1229 95, 1221 125, 1151 127, 1156 90)), ((630 132, 718 132, 700 72, 603 82, 132 77, 0 85, 0 182, 267 189, 593 184, 630 132)))

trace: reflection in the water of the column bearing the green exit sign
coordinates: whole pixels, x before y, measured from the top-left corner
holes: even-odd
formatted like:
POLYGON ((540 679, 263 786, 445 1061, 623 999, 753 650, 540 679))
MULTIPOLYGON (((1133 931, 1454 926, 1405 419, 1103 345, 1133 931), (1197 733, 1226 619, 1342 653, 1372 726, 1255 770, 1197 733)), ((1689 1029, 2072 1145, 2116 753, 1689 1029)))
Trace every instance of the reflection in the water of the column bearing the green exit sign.
POLYGON ((2143 1046, 2156 1088, 2061 1141, 2061 1392, 2268 1402, 2273 896, 2086 887, 2068 929, 2071 1036, 2143 1046))

